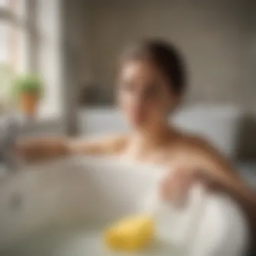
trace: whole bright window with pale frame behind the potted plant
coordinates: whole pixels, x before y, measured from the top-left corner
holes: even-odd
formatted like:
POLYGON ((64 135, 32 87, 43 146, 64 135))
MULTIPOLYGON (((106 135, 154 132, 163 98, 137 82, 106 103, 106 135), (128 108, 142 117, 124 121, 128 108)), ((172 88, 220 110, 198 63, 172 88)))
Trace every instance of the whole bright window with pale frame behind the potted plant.
POLYGON ((36 72, 44 81, 38 118, 61 109, 60 5, 61 0, 0 0, 0 100, 11 100, 11 77, 36 72))

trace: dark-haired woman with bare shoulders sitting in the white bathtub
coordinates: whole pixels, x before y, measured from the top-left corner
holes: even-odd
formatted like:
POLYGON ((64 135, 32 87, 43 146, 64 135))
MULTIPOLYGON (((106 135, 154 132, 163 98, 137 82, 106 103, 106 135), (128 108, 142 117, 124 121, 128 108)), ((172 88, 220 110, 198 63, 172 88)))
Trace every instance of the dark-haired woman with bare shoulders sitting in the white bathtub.
POLYGON ((112 154, 139 162, 177 168, 161 187, 165 199, 181 203, 195 181, 226 191, 245 210, 255 230, 255 192, 236 175, 217 150, 199 137, 170 127, 168 116, 186 89, 185 67, 174 46, 148 40, 121 57, 117 98, 133 131, 94 141, 35 138, 20 143, 27 160, 64 154, 112 154))

